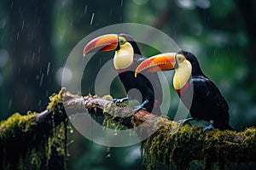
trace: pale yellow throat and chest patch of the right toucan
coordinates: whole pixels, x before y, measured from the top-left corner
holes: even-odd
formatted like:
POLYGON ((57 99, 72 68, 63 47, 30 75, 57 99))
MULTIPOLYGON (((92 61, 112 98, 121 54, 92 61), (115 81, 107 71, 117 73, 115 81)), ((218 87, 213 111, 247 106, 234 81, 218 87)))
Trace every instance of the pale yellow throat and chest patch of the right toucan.
POLYGON ((191 77, 192 66, 188 60, 178 64, 173 77, 173 87, 176 90, 183 88, 191 77))

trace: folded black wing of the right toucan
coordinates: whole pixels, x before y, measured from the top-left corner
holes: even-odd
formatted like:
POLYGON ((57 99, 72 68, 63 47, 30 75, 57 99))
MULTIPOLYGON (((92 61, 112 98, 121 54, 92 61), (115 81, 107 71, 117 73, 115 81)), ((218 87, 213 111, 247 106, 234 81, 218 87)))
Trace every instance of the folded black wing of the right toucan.
POLYGON ((193 102, 191 115, 199 116, 207 121, 213 120, 218 128, 230 128, 229 106, 216 87, 207 77, 192 77, 193 102))

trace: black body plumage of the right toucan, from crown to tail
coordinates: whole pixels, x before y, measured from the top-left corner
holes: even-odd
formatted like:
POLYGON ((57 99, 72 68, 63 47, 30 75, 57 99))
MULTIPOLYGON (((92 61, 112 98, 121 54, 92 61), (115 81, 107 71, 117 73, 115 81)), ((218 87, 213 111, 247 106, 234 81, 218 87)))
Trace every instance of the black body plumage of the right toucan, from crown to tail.
POLYGON ((219 129, 232 129, 229 125, 229 106, 216 85, 201 71, 194 54, 181 51, 192 66, 192 73, 186 89, 178 92, 183 104, 192 117, 213 121, 219 129))

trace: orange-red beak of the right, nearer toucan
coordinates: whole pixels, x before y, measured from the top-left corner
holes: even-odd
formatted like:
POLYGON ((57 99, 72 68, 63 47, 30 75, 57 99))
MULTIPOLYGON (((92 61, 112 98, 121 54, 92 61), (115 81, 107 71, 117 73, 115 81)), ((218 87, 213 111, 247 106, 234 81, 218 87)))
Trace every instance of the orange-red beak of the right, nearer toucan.
POLYGON ((156 72, 167 71, 175 68, 177 53, 157 54, 144 60, 137 66, 135 71, 135 77, 142 71, 156 72))

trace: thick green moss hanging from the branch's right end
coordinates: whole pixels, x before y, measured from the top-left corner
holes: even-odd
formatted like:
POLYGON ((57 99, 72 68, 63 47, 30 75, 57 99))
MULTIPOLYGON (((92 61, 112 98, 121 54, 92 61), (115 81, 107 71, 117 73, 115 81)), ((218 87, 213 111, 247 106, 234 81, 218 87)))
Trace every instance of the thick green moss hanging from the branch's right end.
POLYGON ((255 135, 254 127, 241 133, 218 129, 203 133, 202 127, 178 127, 170 123, 143 142, 143 164, 147 169, 160 164, 174 164, 183 169, 195 161, 204 168, 256 161, 255 135))

